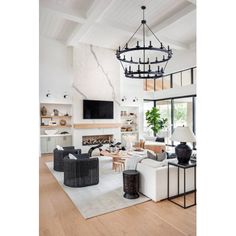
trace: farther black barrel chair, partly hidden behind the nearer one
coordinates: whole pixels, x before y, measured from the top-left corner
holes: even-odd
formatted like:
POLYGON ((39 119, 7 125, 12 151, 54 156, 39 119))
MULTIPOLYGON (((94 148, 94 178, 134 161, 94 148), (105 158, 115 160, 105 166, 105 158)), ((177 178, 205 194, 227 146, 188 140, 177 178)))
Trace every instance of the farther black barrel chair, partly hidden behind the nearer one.
POLYGON ((81 149, 75 149, 74 146, 63 147, 64 150, 58 150, 55 148, 53 150, 53 169, 56 171, 64 171, 64 157, 69 153, 71 154, 81 154, 81 149))

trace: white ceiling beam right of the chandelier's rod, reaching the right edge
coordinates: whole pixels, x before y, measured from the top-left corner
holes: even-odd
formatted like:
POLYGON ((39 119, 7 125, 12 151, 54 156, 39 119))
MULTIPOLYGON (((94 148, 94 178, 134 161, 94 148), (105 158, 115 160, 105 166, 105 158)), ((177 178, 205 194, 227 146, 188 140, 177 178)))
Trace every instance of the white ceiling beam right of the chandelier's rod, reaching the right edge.
MULTIPOLYGON (((186 16, 188 13, 194 11, 195 9, 196 9, 195 5, 189 4, 188 6, 181 9, 180 11, 176 12, 175 14, 173 14, 171 16, 167 16, 166 19, 164 19, 163 21, 161 21, 160 23, 158 23, 156 26, 152 27, 151 29, 154 33, 157 33, 158 31, 160 31, 160 30, 166 28, 167 26, 173 24, 174 22, 176 22, 180 18, 186 16)), ((151 34, 152 33, 149 32, 148 35, 151 35, 151 34)))

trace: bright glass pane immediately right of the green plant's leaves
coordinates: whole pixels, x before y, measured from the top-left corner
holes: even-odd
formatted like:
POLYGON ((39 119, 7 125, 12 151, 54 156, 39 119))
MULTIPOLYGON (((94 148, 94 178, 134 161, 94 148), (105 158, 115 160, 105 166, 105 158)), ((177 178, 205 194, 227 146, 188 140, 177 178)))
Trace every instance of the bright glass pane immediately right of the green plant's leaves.
POLYGON ((156 107, 160 110, 161 118, 167 119, 166 127, 158 135, 165 138, 166 144, 171 144, 171 100, 157 101, 156 107))

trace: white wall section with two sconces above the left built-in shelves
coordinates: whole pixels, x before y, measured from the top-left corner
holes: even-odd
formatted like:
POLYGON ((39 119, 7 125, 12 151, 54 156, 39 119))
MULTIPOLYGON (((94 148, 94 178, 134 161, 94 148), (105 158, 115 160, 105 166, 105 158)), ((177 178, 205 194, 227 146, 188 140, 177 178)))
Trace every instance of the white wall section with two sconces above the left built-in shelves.
MULTIPOLYGON (((32 78, 33 79, 33 78, 32 78)), ((72 48, 57 40, 40 36, 39 39, 39 97, 40 102, 71 102, 73 81, 72 48), (46 94, 50 90, 51 97, 46 94), (63 98, 64 92, 69 97, 63 98)))

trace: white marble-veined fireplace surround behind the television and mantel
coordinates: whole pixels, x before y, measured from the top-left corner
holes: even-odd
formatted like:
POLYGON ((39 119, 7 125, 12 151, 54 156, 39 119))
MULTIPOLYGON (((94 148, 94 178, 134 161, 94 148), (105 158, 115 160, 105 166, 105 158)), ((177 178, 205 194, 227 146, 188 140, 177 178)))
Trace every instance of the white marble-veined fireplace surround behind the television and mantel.
MULTIPOLYGON (((115 52, 92 45, 78 44, 73 49, 73 123, 120 122, 120 65, 115 52), (114 101, 114 119, 83 119, 83 99, 114 101)), ((82 136, 112 134, 120 140, 120 128, 76 129, 73 145, 87 152, 90 146, 82 146, 82 136)))

